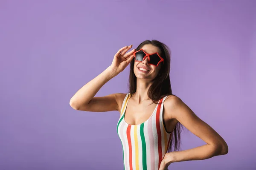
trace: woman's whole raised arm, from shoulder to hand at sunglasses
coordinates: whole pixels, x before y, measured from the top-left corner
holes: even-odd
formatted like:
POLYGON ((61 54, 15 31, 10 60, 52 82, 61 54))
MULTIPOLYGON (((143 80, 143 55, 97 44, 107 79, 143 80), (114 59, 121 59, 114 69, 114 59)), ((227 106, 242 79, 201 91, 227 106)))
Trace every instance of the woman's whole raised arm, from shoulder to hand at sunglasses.
POLYGON ((80 88, 70 99, 70 106, 79 111, 119 111, 118 103, 123 94, 110 94, 102 97, 94 96, 105 83, 123 71, 131 62, 134 50, 126 53, 131 47, 132 45, 119 49, 114 56, 111 66, 80 88))

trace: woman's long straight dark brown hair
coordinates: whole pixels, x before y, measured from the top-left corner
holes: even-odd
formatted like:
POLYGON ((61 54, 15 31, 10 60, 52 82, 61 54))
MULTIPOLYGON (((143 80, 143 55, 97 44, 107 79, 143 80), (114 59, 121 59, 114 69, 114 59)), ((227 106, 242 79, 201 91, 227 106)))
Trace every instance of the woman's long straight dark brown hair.
MULTIPOLYGON (((152 85, 148 89, 148 97, 153 101, 153 103, 158 104, 157 101, 162 99, 164 96, 174 95, 172 94, 171 82, 170 82, 170 60, 171 60, 171 52, 167 45, 163 42, 157 40, 145 40, 136 48, 136 51, 141 49, 143 45, 151 44, 160 49, 160 56, 164 59, 164 63, 161 62, 162 65, 158 75, 154 78, 152 85)), ((129 93, 134 94, 137 88, 137 77, 134 74, 134 59, 130 62, 130 75, 129 75, 129 93)), ((175 95, 174 95, 175 96, 175 95)), ((152 103, 152 104, 153 104, 152 103)), ((161 104, 162 102, 159 102, 161 104)), ((174 146, 174 151, 180 149, 180 133, 181 127, 183 127, 180 122, 177 123, 173 132, 172 132, 172 140, 169 148, 167 148, 167 152, 172 152, 172 146, 174 146)))

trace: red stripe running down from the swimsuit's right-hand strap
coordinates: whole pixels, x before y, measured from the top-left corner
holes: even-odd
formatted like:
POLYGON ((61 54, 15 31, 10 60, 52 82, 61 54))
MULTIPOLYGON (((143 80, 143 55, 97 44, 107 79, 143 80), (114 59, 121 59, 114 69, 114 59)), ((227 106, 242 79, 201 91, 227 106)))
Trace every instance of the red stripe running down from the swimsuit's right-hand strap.
MULTIPOLYGON (((162 102, 163 99, 160 100, 160 102, 162 102)), ((156 117, 156 124, 157 124, 157 136, 158 136, 158 169, 160 167, 160 163, 162 161, 162 137, 161 137, 161 129, 160 129, 160 109, 161 109, 161 105, 158 105, 157 107, 157 117, 156 117)))

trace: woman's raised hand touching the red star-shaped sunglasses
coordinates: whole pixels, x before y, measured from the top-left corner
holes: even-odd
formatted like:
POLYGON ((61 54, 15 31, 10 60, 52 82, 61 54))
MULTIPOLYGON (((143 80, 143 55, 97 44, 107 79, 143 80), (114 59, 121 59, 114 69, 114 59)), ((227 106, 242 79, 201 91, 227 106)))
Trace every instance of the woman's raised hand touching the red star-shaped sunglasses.
POLYGON ((132 45, 125 46, 119 49, 119 51, 117 51, 117 53, 114 55, 114 59, 110 68, 112 68, 113 71, 116 71, 116 74, 119 74, 120 72, 122 72, 127 67, 127 65, 131 62, 131 60, 134 58, 133 53, 135 49, 126 53, 129 49, 131 49, 131 47, 132 45))

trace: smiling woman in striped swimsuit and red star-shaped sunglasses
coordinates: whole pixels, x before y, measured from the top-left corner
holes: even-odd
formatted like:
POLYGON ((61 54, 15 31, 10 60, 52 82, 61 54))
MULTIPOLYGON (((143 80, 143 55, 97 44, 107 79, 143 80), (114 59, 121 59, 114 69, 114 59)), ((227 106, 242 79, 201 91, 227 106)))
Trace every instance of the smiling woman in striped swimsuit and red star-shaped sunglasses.
POLYGON ((79 111, 120 112, 117 133, 122 142, 124 170, 168 170, 172 162, 227 154, 224 139, 172 94, 168 46, 145 40, 127 52, 131 47, 119 49, 111 66, 70 99, 70 106, 79 111), (95 97, 129 64, 129 93, 95 97), (182 125, 207 144, 178 151, 182 125))

